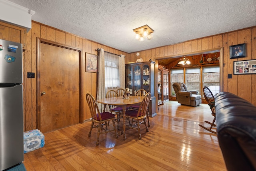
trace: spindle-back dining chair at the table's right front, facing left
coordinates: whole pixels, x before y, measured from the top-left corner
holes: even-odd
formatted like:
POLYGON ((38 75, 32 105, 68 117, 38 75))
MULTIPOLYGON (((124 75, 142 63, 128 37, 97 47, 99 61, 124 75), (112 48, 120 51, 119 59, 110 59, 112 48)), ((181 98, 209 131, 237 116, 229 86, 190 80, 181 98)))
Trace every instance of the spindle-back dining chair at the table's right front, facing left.
POLYGON ((131 123, 129 124, 129 128, 138 130, 138 139, 141 139, 140 124, 144 123, 146 127, 146 131, 147 132, 149 131, 146 123, 147 122, 146 117, 147 117, 148 104, 150 102, 150 98, 151 98, 151 94, 146 93, 146 95, 142 99, 142 102, 140 103, 138 110, 128 110, 126 111, 126 114, 125 114, 126 118, 130 118, 132 120, 131 123))

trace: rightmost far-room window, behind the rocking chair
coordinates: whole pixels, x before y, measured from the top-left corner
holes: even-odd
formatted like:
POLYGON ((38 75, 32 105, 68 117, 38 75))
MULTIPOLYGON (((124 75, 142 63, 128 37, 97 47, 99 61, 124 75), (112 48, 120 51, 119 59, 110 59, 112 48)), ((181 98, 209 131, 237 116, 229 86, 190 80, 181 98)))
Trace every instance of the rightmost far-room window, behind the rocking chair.
POLYGON ((203 67, 202 81, 213 95, 220 92, 220 67, 203 67))

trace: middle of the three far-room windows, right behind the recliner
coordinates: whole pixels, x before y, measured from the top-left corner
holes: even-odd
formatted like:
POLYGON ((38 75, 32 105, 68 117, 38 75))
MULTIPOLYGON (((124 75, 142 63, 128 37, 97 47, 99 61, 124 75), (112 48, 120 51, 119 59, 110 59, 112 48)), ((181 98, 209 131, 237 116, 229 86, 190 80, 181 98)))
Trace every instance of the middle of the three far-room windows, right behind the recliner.
POLYGON ((186 86, 189 90, 196 90, 200 94, 200 68, 186 69, 186 86))

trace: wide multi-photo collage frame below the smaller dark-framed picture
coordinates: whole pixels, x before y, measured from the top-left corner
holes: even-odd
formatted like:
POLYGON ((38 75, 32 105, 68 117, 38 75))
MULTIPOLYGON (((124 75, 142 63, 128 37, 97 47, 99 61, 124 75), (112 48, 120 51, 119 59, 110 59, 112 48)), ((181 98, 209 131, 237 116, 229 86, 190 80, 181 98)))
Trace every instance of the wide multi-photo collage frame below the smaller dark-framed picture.
POLYGON ((256 74, 256 60, 234 61, 234 75, 256 74))

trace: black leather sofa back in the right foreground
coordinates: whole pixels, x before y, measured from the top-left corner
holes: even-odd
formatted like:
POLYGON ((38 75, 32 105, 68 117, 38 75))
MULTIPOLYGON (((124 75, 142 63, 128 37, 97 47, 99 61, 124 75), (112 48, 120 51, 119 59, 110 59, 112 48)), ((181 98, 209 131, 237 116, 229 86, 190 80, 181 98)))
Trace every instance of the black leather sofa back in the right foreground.
POLYGON ((217 136, 228 171, 256 171, 256 107, 228 92, 215 95, 217 136))

